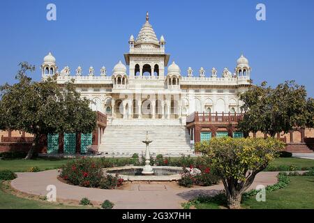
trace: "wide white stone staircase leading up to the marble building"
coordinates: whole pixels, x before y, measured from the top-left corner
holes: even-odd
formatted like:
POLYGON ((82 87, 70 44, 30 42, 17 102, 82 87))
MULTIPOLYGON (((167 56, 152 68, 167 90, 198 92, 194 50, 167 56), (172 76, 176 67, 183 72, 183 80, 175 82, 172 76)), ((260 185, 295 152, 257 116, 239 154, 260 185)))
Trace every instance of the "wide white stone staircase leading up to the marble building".
POLYGON ((101 153, 144 153, 148 131, 151 154, 185 154, 191 153, 190 135, 181 125, 108 125, 101 137, 98 151, 101 153))

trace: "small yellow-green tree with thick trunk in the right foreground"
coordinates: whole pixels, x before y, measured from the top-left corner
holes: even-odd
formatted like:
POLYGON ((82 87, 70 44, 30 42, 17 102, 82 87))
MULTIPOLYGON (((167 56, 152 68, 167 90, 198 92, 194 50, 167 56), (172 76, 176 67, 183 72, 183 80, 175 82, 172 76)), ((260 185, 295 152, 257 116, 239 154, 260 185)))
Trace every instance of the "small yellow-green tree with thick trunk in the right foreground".
POLYGON ((274 138, 216 138, 195 144, 211 161, 223 181, 227 205, 240 208, 242 194, 251 186, 256 174, 265 169, 283 149, 282 141, 274 138))

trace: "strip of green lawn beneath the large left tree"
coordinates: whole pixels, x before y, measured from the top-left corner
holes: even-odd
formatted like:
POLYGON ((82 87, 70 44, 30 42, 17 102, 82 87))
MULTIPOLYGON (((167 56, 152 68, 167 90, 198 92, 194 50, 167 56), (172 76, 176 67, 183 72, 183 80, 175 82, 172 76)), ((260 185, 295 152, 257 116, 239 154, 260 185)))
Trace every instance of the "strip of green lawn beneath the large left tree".
POLYGON ((39 167, 41 171, 47 169, 57 169, 63 164, 68 162, 67 159, 63 160, 47 160, 38 158, 36 160, 0 160, 0 170, 10 169, 14 172, 25 172, 30 167, 39 167))

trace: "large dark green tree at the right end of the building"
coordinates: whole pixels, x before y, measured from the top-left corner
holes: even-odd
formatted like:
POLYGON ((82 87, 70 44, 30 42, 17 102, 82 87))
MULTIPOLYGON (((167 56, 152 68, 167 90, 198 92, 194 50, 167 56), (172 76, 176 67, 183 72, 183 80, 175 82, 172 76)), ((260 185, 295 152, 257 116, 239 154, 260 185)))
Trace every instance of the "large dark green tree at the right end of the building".
POLYGON ((274 137, 278 132, 289 132, 295 127, 313 125, 313 99, 306 99, 306 89, 294 81, 278 84, 275 89, 262 82, 241 93, 244 118, 239 129, 244 132, 261 131, 274 137), (311 104, 312 103, 312 104, 311 104))

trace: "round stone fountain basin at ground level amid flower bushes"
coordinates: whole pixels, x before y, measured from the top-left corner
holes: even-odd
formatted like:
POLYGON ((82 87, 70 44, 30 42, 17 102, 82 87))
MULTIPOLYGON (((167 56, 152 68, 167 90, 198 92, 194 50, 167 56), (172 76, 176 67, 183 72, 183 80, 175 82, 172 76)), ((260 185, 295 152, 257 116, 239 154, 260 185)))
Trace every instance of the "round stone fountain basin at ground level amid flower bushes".
POLYGON ((143 175, 143 167, 140 166, 126 166, 126 167, 112 167, 105 168, 105 174, 116 175, 119 174, 121 178, 128 181, 172 181, 180 180, 182 167, 152 167, 154 174, 143 175))

